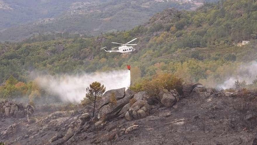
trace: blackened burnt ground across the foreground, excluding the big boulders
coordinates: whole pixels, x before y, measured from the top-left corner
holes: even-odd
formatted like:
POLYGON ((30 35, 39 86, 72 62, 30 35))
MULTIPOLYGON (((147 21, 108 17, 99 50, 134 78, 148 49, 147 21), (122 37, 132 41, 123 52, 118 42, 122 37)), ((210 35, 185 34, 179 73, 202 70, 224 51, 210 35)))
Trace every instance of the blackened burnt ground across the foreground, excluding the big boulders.
MULTIPOLYGON (((2 139, 6 144, 14 145, 247 145, 252 144, 252 140, 257 136, 256 101, 256 96, 253 95, 225 97, 195 93, 181 98, 172 108, 154 105, 150 115, 139 120, 126 121, 124 118, 116 118, 101 127, 90 125, 86 131, 75 131, 74 136, 68 141, 59 139, 49 142, 56 133, 67 132, 65 124, 68 121, 60 127, 47 128, 47 123, 40 121, 28 124, 26 118, 1 118, 0 129, 2 131, 8 125, 19 122, 16 133, 2 139), (4 122, 1 122, 3 120, 4 122), (120 130, 133 124, 139 125, 138 129, 115 138, 111 137, 110 130, 120 130), (103 142, 96 141, 104 136, 107 136, 107 139, 103 142)), ((32 117, 43 120, 47 113, 49 112, 35 112, 32 117)), ((74 116, 76 115, 68 118, 74 116)), ((74 123, 73 127, 79 128, 79 124, 74 123)))

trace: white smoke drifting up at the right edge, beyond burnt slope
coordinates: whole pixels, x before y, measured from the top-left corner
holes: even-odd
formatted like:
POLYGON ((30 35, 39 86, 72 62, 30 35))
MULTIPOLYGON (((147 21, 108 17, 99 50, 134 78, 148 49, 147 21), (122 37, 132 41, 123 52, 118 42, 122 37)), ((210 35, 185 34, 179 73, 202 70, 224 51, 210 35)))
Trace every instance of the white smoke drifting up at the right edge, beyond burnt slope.
POLYGON ((251 84, 253 80, 257 79, 257 62, 253 61, 248 64, 240 65, 235 70, 235 75, 230 76, 224 83, 218 85, 218 88, 233 88, 235 81, 246 81, 246 84, 251 84))

